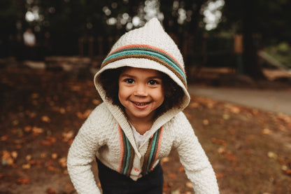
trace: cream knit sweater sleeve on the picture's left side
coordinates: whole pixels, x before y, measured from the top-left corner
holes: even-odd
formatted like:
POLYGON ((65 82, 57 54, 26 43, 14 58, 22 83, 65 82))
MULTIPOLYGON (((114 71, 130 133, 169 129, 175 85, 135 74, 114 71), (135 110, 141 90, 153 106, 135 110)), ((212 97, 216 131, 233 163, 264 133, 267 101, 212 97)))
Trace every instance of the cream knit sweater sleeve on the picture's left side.
POLYGON ((79 194, 101 193, 90 165, 98 148, 101 146, 102 139, 97 129, 97 127, 101 127, 97 123, 97 109, 92 111, 87 120, 85 120, 69 148, 68 172, 73 186, 79 194))

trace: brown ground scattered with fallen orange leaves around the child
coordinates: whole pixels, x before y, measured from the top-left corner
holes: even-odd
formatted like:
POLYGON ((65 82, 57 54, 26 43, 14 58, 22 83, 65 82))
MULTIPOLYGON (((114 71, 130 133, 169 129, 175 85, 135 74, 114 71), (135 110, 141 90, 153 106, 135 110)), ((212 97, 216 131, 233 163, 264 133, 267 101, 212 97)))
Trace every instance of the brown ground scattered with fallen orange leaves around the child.
MULTIPOLYGON (((66 155, 100 103, 92 74, 24 67, 0 74, 0 193, 76 193, 66 155)), ((185 114, 220 193, 291 193, 290 116, 194 96, 185 114)), ((194 193, 176 152, 162 166, 164 193, 194 193)))

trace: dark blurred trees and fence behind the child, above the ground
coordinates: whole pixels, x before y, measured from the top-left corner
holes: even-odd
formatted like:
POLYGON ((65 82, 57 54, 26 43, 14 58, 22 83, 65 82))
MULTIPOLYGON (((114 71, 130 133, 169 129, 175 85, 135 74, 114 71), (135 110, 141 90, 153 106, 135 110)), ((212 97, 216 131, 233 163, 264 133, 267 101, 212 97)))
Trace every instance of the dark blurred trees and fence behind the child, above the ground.
POLYGON ((291 67, 288 0, 1 0, 0 57, 100 60, 130 29, 157 17, 187 67, 231 67, 264 79, 265 65, 291 67), (34 34, 24 43, 25 32, 34 34))

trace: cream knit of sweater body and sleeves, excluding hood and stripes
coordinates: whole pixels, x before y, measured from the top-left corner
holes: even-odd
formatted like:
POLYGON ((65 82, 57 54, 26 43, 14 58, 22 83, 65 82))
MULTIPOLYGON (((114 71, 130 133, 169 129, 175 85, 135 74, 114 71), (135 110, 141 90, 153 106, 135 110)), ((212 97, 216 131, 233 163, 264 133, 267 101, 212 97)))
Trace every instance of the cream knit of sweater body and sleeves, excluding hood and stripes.
MULTIPOLYGON (((132 153, 134 158, 132 169, 129 169, 129 176, 136 180, 143 173, 142 167, 150 136, 160 126, 153 125, 154 128, 148 135, 148 140, 140 148, 137 148, 132 129, 126 118, 124 119, 122 130, 127 134, 128 140, 134 148, 134 153, 132 153)), ((120 172, 122 157, 124 157, 124 155, 122 156, 124 147, 121 142, 122 138, 120 138, 120 127, 104 103, 92 111, 81 127, 68 155, 69 175, 78 193, 100 193, 90 165, 95 156, 107 167, 120 172)), ((159 149, 152 167, 155 167, 161 158, 169 155, 171 149, 174 148, 178 151, 180 162, 185 167, 187 177, 192 181, 195 193, 219 193, 211 164, 182 112, 171 118, 169 122, 164 123, 159 135, 159 149)))

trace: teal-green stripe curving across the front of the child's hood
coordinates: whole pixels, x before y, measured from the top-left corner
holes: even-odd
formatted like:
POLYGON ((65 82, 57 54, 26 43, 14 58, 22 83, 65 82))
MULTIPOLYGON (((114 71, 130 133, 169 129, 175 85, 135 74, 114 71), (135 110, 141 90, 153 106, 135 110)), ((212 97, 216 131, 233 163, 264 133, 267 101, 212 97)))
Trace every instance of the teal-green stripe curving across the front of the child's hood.
MULTIPOLYGON (((186 76, 183 72, 183 70, 181 69, 180 65, 178 65, 176 62, 173 62, 172 60, 169 60, 169 56, 168 55, 161 55, 160 52, 158 52, 157 50, 120 50, 120 52, 118 53, 113 53, 111 55, 109 55, 108 57, 106 57, 106 59, 102 62, 102 64, 104 62, 106 62, 107 60, 111 60, 115 57, 121 57, 121 56, 125 56, 125 55, 150 55, 152 57, 157 57, 160 60, 163 60, 164 62, 166 62, 167 64, 170 64, 171 67, 173 67, 174 69, 176 69, 176 71, 178 71, 179 74, 181 74, 183 76, 183 78, 186 80, 186 76), (167 57, 165 57, 167 56, 167 57)), ((163 53, 164 54, 164 53, 163 53)))

